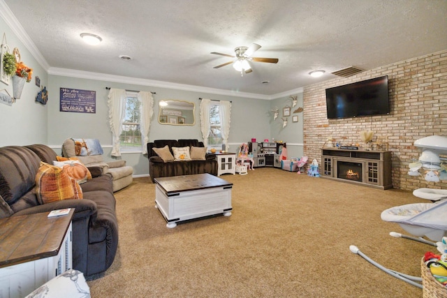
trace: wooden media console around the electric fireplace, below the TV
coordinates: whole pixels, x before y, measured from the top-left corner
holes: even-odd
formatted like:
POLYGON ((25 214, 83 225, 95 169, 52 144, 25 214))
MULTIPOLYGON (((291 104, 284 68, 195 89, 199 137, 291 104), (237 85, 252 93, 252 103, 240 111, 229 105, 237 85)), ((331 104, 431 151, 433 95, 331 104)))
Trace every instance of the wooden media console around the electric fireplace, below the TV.
POLYGON ((391 182, 391 151, 365 151, 321 148, 321 178, 359 184, 379 189, 393 188, 391 182), (339 177, 339 165, 355 163, 358 180, 339 177))

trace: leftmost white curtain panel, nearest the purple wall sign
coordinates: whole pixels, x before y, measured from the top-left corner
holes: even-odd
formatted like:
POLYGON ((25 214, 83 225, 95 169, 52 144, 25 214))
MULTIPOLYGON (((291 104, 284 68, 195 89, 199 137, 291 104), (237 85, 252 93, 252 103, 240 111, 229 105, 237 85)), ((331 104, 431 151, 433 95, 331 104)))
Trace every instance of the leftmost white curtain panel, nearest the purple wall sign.
POLYGON ((108 96, 109 124, 112 131, 112 156, 121 156, 119 151, 119 135, 122 133, 122 121, 126 110, 126 90, 110 89, 108 96))

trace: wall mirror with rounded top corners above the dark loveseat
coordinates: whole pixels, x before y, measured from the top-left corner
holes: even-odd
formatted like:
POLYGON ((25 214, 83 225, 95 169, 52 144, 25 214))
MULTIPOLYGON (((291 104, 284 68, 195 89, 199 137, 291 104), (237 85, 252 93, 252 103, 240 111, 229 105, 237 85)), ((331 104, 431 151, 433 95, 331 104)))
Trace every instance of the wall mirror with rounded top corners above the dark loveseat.
POLYGON ((196 124, 195 106, 184 100, 160 100, 159 124, 194 125, 196 124))

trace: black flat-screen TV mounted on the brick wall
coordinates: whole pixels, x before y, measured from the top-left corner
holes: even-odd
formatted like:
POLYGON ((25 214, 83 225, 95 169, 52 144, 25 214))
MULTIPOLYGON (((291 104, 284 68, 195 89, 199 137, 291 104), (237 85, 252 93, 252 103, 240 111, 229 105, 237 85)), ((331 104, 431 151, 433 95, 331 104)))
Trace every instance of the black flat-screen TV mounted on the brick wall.
POLYGON ((390 114, 388 76, 326 89, 328 119, 390 114))

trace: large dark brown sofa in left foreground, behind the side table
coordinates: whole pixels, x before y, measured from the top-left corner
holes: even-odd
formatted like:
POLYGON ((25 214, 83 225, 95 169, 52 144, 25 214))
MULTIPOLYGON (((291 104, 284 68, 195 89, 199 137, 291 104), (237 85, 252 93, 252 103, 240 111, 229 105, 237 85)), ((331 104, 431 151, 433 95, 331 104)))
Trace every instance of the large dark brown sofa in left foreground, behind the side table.
POLYGON ((118 246, 118 224, 112 178, 100 167, 89 167, 92 179, 80 184, 82 200, 43 204, 36 195, 41 161, 52 165, 57 154, 43 144, 0 148, 0 218, 75 208, 73 216, 73 269, 86 276, 110 267, 118 246))

